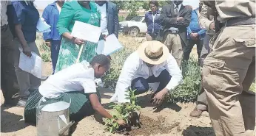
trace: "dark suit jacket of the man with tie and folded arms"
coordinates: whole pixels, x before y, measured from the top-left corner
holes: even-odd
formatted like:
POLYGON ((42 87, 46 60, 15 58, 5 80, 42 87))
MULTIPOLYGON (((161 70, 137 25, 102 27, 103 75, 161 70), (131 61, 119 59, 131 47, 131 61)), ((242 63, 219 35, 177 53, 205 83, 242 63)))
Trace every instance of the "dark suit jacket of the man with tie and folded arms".
POLYGON ((163 29, 158 35, 158 40, 162 41, 164 37, 164 32, 168 30, 170 27, 176 27, 179 30, 179 35, 183 42, 182 45, 185 46, 186 44, 186 27, 189 26, 191 21, 191 12, 192 9, 190 7, 186 7, 181 5, 181 9, 178 12, 179 17, 183 17, 183 21, 177 21, 177 17, 175 17, 175 5, 173 3, 166 4, 161 10, 161 25, 163 29))

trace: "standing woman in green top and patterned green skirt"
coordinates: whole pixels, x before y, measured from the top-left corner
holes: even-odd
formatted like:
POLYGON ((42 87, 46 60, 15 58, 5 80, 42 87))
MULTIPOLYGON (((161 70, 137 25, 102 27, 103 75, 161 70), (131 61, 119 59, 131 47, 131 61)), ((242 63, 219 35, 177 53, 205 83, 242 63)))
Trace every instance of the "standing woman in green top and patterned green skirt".
POLYGON ((61 49, 58 54, 55 72, 73 65, 78 57, 80 47, 83 44, 84 49, 81 53, 80 62, 82 60, 90 62, 92 57, 96 55, 98 43, 84 41, 71 35, 75 21, 100 26, 101 14, 97 11, 97 7, 94 2, 70 1, 64 4, 57 24, 58 32, 63 38, 61 41, 61 49))

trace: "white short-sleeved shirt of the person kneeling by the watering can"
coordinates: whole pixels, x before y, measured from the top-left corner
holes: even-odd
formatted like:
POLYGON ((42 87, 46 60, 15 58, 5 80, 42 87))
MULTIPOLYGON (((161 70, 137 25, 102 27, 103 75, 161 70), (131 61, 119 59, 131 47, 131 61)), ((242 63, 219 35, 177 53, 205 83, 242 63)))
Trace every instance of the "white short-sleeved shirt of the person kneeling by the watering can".
POLYGON ((56 97, 60 93, 81 90, 84 93, 95 93, 94 70, 89 65, 89 62, 83 61, 58 71, 40 85, 39 92, 44 97, 56 97))

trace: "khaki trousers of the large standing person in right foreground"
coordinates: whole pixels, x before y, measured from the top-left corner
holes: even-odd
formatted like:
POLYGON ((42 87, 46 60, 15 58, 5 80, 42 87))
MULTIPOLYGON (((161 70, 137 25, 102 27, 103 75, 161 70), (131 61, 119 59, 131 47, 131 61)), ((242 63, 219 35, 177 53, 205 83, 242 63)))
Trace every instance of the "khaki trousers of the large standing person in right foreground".
POLYGON ((227 26, 212 37, 203 63, 203 87, 216 136, 253 135, 255 25, 227 26))

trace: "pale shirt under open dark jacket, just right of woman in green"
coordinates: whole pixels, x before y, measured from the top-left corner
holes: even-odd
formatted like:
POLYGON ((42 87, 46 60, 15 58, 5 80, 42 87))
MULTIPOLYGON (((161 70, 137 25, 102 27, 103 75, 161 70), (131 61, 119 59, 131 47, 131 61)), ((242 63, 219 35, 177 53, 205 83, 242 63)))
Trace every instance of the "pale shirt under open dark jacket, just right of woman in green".
POLYGON ((97 9, 101 12, 101 32, 103 35, 109 35, 107 30, 107 6, 103 4, 102 6, 97 5, 97 9))

